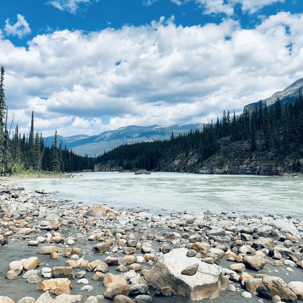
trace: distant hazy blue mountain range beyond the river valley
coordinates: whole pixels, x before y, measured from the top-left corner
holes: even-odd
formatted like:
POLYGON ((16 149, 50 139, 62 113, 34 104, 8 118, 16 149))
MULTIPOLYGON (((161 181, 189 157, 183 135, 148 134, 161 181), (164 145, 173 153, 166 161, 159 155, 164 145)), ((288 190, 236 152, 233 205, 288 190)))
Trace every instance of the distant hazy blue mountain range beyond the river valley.
MULTIPOLYGON (((72 148, 76 154, 94 156, 95 154, 102 154, 104 151, 109 151, 122 144, 169 139, 171 132, 174 132, 176 136, 186 134, 191 129, 201 129, 202 127, 203 123, 171 126, 130 125, 93 136, 75 135, 72 137, 62 137, 58 135, 58 142, 62 142, 63 148, 65 145, 69 149, 72 148)), ((46 138, 44 138, 44 141, 45 140, 46 138)), ((53 142, 54 136, 48 137, 46 145, 51 146, 53 142)))

